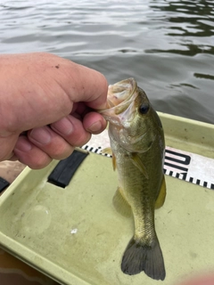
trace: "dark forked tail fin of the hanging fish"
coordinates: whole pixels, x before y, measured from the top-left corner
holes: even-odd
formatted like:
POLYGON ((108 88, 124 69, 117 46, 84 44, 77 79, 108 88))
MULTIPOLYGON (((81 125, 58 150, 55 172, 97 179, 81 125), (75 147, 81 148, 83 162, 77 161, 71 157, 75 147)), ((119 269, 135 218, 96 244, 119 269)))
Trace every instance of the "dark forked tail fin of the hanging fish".
POLYGON ((144 271, 152 279, 163 281, 166 272, 159 240, 156 238, 150 246, 134 238, 130 240, 122 258, 121 270, 129 275, 144 271))

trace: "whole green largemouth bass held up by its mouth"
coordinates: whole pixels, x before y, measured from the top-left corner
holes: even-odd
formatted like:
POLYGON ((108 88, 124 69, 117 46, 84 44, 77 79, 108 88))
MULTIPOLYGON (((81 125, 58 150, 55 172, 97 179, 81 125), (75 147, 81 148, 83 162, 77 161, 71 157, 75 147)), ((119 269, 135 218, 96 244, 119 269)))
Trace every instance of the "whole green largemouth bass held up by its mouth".
POLYGON ((163 205, 166 196, 161 120, 134 78, 110 85, 107 98, 109 109, 100 113, 109 121, 113 168, 118 170, 114 203, 115 199, 125 200, 135 221, 121 270, 129 275, 144 271, 155 280, 164 280, 165 266, 154 226, 154 209, 163 205))

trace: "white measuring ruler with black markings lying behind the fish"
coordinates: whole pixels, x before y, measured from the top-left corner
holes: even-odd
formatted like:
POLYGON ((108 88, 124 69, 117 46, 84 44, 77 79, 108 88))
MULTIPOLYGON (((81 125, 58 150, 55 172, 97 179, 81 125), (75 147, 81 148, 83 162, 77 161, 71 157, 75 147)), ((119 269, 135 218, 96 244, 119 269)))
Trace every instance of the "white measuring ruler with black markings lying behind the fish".
MULTIPOLYGON (((102 134, 92 135, 91 140, 82 147, 86 151, 111 157, 110 154, 101 152, 106 148, 110 148, 106 130, 102 134)), ((214 190, 214 159, 167 146, 163 170, 165 175, 214 190)))

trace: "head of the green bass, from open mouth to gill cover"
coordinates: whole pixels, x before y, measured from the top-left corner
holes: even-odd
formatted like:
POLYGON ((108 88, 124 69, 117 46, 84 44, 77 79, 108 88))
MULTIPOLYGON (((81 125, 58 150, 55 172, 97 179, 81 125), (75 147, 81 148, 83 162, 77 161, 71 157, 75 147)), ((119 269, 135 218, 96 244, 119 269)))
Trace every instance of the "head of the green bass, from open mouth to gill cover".
POLYGON ((148 132, 155 111, 136 80, 128 78, 110 85, 108 100, 110 108, 99 113, 110 123, 110 137, 114 137, 126 151, 148 151, 156 137, 153 132, 148 132), (148 114, 142 115, 142 106, 149 106, 148 114))

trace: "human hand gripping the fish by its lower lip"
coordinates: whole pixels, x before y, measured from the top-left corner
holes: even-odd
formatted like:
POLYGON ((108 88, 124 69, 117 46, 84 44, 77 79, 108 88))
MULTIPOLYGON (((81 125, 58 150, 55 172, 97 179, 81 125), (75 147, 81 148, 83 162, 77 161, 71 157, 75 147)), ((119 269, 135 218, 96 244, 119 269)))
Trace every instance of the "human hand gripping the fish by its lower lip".
POLYGON ((50 53, 0 56, 0 160, 42 168, 99 134, 108 85, 99 72, 50 53), (24 135, 23 135, 24 132, 24 135))

